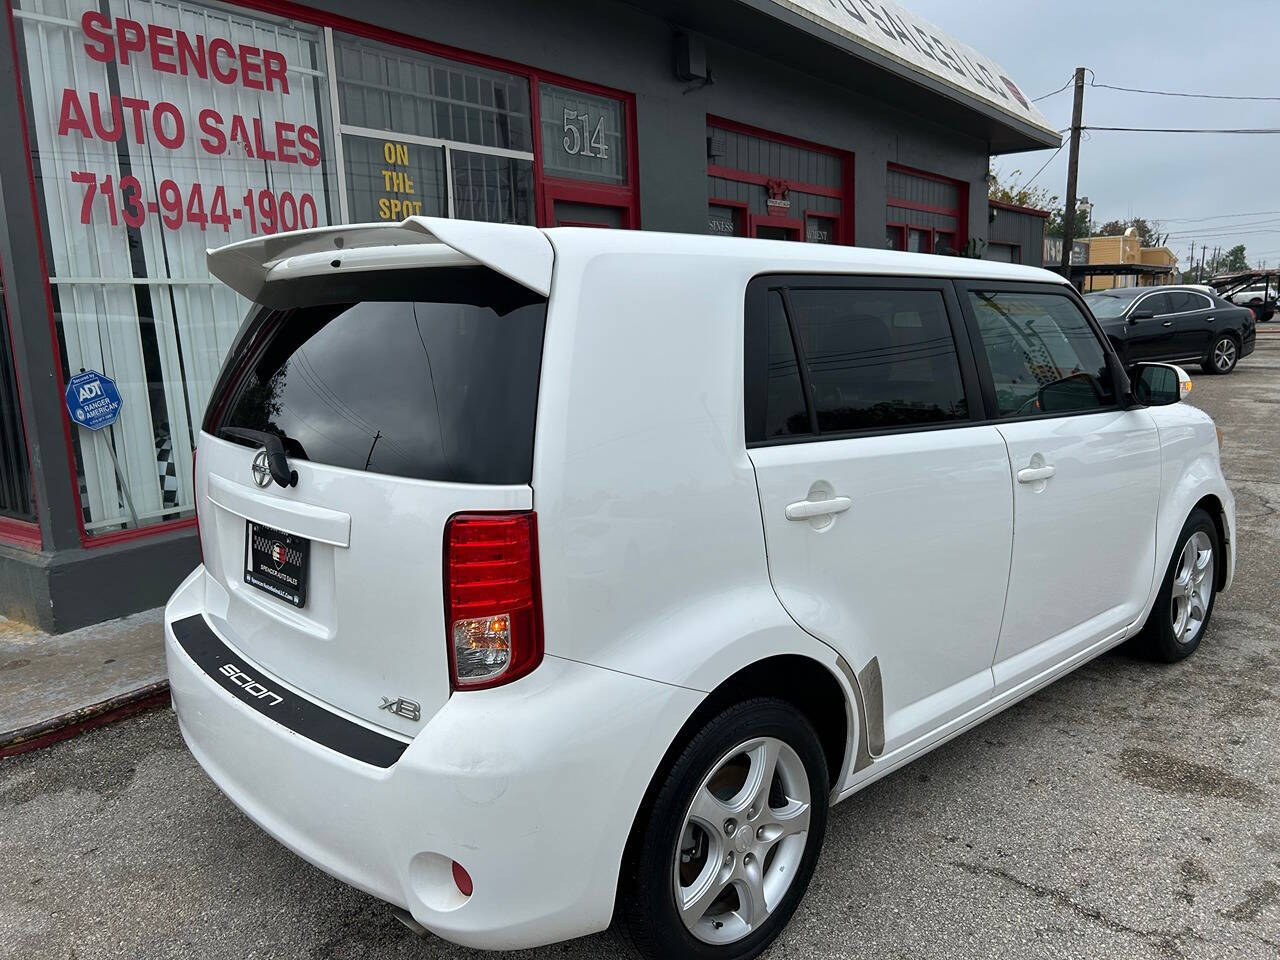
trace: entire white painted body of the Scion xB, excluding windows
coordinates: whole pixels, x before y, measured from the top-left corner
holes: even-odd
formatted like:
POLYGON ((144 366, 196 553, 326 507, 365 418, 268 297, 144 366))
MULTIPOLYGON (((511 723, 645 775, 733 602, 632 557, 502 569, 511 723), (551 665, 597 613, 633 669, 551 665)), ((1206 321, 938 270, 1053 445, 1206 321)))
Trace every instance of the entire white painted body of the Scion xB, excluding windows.
POLYGON ((1134 635, 1198 503, 1221 524, 1230 582, 1234 499, 1212 421, 1185 404, 748 444, 753 278, 1061 289, 1047 271, 438 219, 210 255, 251 298, 268 279, 467 262, 549 297, 531 481, 293 458, 297 486, 262 489, 252 447, 202 433, 205 563, 165 613, 174 707, 209 776, 291 850, 451 941, 515 948, 604 929, 664 755, 753 664, 801 658, 838 689, 837 801, 1134 635), (1056 476, 1016 483, 1033 457, 1056 476), (823 529, 790 522, 815 481, 851 508, 823 529), (536 512, 545 655, 509 685, 451 691, 442 530, 460 511, 506 509, 536 512), (312 541, 305 608, 243 582, 246 520, 312 541), (252 696, 292 695, 402 753, 376 765, 276 722, 197 666, 175 625, 229 649, 223 676, 252 696), (420 719, 378 709, 390 696, 420 719))

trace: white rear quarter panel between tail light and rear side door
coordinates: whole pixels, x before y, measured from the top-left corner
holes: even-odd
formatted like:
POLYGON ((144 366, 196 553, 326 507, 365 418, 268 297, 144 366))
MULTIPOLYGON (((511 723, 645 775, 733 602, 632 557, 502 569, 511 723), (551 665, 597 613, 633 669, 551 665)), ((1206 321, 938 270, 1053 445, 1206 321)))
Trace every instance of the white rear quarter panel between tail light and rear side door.
POLYGON ((557 256, 534 453, 549 655, 696 690, 835 653, 769 584, 739 257, 557 256))

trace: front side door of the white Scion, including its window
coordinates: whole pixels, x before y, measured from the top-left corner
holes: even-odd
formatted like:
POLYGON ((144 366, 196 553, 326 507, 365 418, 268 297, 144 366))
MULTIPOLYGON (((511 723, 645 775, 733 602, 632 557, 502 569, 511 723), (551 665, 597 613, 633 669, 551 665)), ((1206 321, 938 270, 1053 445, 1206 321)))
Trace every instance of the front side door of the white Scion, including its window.
POLYGON ((1121 410, 1100 333, 1066 289, 963 285, 1014 474, 997 692, 1132 623, 1155 575, 1160 438, 1121 410))

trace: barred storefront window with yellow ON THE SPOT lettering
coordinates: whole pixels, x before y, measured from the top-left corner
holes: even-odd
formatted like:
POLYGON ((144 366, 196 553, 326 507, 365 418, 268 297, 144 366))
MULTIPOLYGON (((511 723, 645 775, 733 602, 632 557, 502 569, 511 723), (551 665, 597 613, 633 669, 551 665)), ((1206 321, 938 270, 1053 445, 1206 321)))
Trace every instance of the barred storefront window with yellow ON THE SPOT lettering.
POLYGON ((334 35, 347 219, 535 219, 529 79, 334 35))

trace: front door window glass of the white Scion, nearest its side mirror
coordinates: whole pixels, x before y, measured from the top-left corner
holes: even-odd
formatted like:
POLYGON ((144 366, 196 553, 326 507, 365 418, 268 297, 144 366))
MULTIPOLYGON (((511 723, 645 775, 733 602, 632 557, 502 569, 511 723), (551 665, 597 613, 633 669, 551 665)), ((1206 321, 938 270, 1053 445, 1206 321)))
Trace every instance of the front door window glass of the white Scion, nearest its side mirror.
POLYGON ((1115 404, 1106 353, 1079 307, 1056 293, 969 293, 1002 417, 1115 404))

